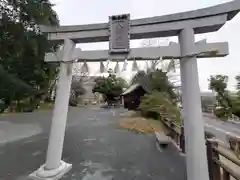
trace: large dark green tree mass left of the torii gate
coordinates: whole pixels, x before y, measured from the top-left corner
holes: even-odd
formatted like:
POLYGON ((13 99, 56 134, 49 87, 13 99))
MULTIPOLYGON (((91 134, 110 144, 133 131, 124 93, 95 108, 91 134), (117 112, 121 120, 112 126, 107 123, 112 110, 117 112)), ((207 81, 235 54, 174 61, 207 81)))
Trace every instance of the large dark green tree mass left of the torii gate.
POLYGON ((13 83, 1 81, 0 88, 5 89, 5 93, 0 93, 0 99, 9 106, 26 96, 30 99, 46 96, 56 78, 58 64, 44 63, 44 56, 58 46, 49 43, 45 34, 40 33, 39 24, 59 24, 52 5, 49 0, 1 0, 0 10, 3 17, 0 26, 0 66, 5 78, 13 83), (13 77, 15 80, 10 80, 13 77), (28 88, 22 88, 22 91, 12 88, 19 86, 20 82, 25 83, 22 87, 28 88))

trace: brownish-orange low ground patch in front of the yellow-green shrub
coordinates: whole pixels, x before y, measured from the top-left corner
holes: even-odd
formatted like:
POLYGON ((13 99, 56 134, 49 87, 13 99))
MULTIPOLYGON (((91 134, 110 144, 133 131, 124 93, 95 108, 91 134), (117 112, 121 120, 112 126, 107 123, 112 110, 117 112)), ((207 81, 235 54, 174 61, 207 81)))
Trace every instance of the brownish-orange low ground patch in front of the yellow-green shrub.
POLYGON ((161 121, 139 116, 124 117, 120 119, 119 126, 123 129, 142 134, 154 133, 155 131, 168 133, 161 121))

